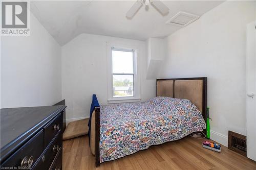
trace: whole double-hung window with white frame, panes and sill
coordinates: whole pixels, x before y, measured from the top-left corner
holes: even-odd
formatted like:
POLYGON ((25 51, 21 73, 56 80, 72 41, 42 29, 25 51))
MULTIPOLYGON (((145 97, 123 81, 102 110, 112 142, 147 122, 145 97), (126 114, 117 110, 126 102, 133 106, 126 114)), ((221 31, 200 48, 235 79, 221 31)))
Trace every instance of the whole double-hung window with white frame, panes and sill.
POLYGON ((142 56, 141 46, 130 43, 113 44, 106 42, 108 62, 108 103, 140 101, 140 75, 138 57, 142 56))

